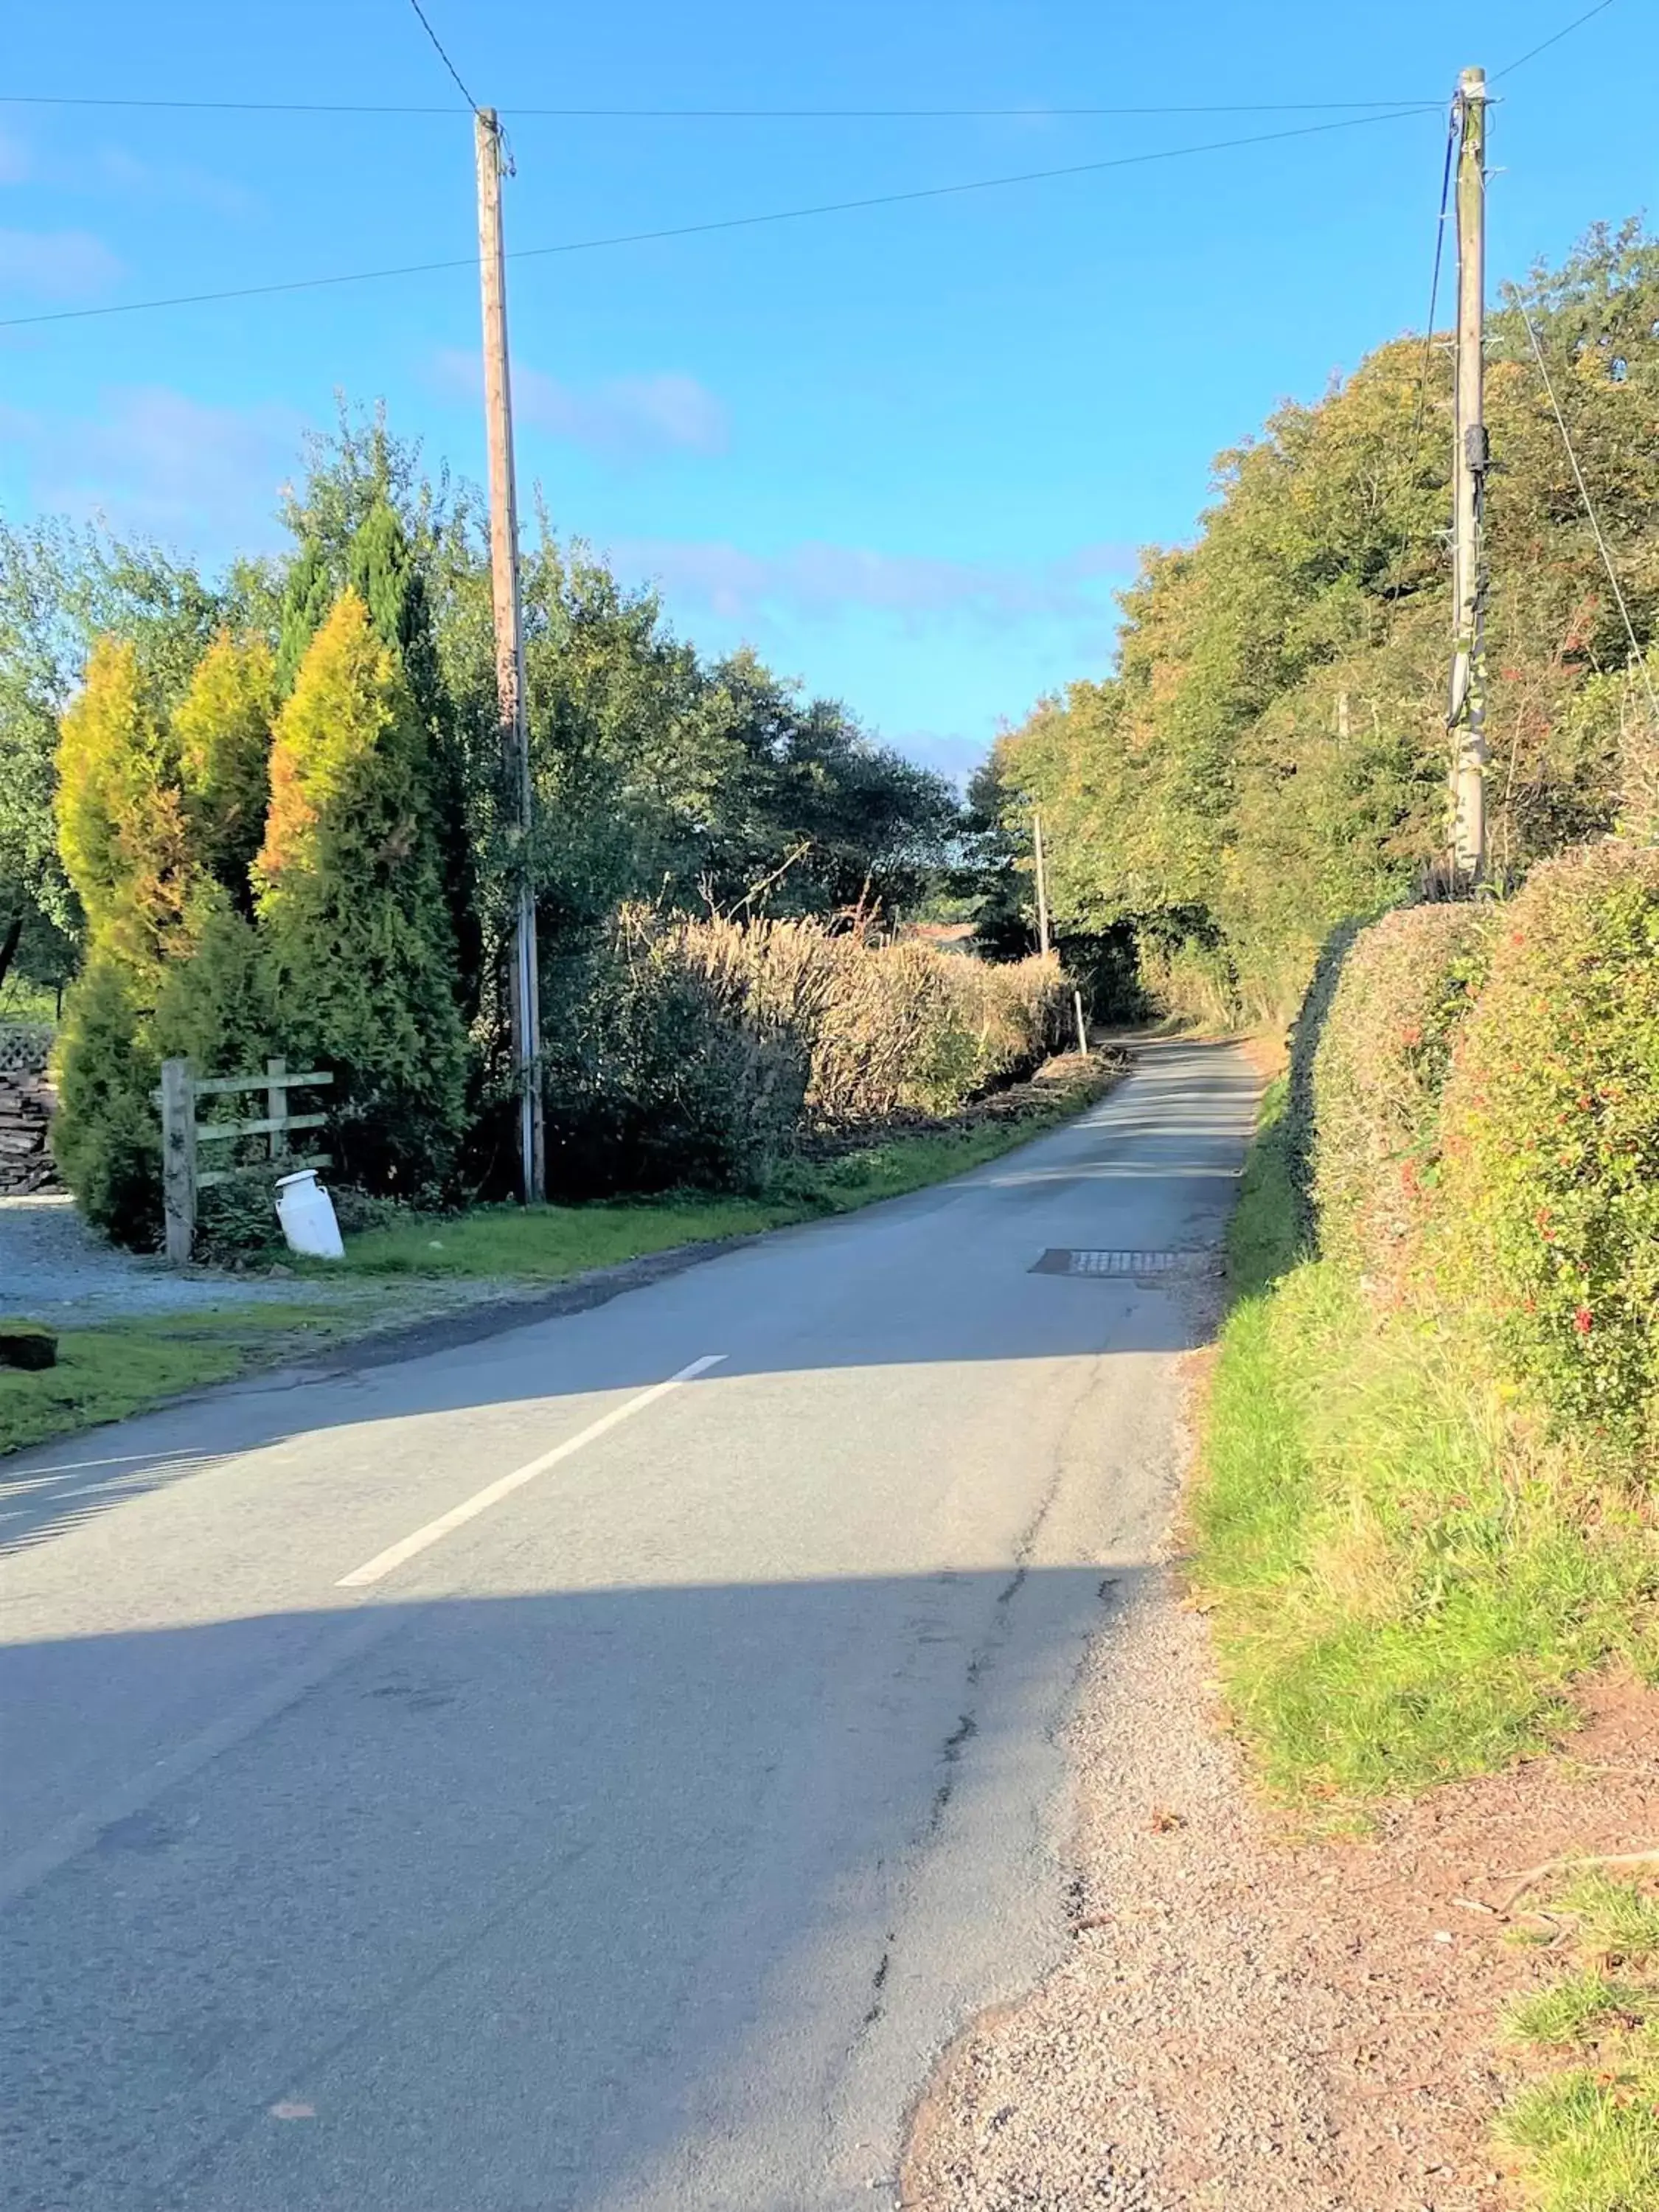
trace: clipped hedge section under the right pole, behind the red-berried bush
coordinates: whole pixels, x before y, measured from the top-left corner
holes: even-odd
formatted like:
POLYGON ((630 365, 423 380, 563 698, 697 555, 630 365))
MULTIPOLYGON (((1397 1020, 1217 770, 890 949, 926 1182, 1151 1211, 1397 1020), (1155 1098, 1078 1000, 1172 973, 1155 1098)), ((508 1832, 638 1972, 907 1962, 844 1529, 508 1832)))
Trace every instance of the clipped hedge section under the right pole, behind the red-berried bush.
POLYGON ((1398 1283, 1438 1175, 1451 1044, 1491 907, 1402 907, 1349 945, 1312 1064, 1312 1194, 1332 1259, 1398 1283))

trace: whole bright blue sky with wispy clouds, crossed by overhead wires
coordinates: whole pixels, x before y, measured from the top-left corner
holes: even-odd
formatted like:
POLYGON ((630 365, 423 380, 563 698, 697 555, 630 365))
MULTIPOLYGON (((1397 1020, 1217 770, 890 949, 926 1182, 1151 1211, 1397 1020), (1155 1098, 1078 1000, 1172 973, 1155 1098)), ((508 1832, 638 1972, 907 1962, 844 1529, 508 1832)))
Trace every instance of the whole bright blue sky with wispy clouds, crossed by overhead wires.
MULTIPOLYGON (((509 111, 509 246, 907 192, 1323 113, 1060 106, 1440 100, 1575 0, 427 0, 509 111), (967 106, 1013 117, 513 117, 522 106, 967 106)), ((11 93, 442 104, 407 0, 13 13, 11 93)), ((1650 204, 1659 9, 1615 0, 1495 91, 1493 274, 1650 204)), ((1135 549, 1212 456, 1427 305, 1442 113, 511 272, 520 484, 949 770, 1097 672, 1135 549)), ((1659 210, 1655 210, 1659 212, 1659 210)), ((453 115, 0 104, 0 314, 473 250, 453 115)), ((206 560, 270 546, 334 392, 482 473, 467 270, 0 330, 0 507, 104 511, 206 560)))

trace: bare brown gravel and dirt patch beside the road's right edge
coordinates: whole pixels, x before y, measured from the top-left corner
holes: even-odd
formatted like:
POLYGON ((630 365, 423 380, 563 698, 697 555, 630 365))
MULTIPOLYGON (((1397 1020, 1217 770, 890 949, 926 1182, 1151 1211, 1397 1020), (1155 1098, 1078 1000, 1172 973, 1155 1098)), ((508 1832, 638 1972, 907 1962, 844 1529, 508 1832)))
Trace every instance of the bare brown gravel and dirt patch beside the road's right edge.
MULTIPOLYGON (((984 2017, 911 2128, 911 2212, 1495 2212, 1498 2015, 1562 1973, 1495 1909, 1564 1851, 1659 1840, 1659 1694, 1557 1759, 1296 1843, 1221 1732, 1203 1619, 1155 1577, 1073 1723, 1073 1947, 984 2017)), ((1515 1909, 1524 1913, 1531 1898, 1515 1909)))

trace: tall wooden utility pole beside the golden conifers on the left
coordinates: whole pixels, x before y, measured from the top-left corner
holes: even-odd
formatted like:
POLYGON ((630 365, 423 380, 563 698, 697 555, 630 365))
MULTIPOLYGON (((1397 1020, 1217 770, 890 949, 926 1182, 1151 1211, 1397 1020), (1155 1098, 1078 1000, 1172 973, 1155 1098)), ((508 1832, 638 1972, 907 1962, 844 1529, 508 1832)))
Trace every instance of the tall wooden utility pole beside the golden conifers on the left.
POLYGON ((507 367, 507 263, 502 254, 502 126, 495 108, 473 117, 478 146, 478 265, 484 288, 484 431, 489 440, 489 580, 495 604, 495 697, 502 768, 518 810, 518 911, 513 918, 513 1071, 518 1077, 520 1190, 546 1197, 542 1128, 542 1011, 535 973, 535 883, 531 880, 531 732, 524 701, 524 611, 518 595, 518 489, 513 484, 513 383, 507 367))

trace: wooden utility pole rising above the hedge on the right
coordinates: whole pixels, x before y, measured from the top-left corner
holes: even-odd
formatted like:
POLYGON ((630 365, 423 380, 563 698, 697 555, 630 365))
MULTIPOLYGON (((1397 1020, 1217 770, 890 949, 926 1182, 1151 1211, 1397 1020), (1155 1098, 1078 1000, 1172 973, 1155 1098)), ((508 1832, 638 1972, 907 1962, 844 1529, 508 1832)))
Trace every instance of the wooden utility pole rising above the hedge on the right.
POLYGON ((1486 71, 1458 80, 1458 372, 1451 456, 1451 880, 1473 889, 1486 869, 1486 71))

